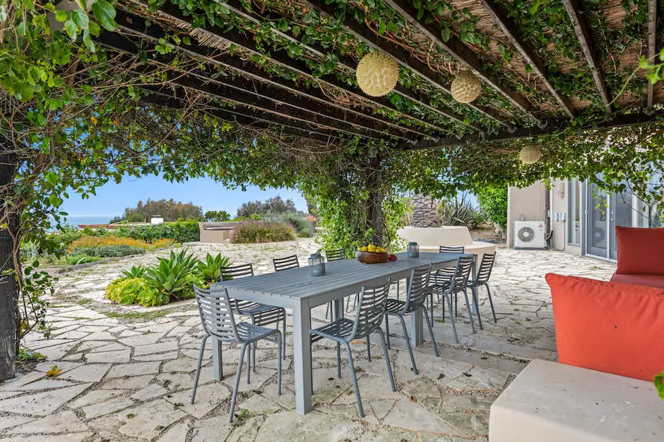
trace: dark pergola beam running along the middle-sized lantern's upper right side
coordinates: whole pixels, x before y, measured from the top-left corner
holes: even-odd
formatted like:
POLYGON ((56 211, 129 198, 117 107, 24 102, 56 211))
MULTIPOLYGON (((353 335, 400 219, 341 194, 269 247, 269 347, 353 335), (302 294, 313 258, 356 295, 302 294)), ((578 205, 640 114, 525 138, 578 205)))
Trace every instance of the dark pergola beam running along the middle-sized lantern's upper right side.
POLYGON ((533 106, 514 89, 509 86, 502 85, 501 82, 492 73, 487 72, 482 68, 482 61, 475 55, 475 53, 463 44, 460 39, 451 35, 447 41, 441 38, 441 27, 436 22, 426 23, 425 20, 417 19, 417 9, 413 6, 410 0, 385 0, 398 14, 401 14, 405 20, 408 20, 418 30, 423 32, 429 39, 432 39, 439 47, 443 48, 447 54, 456 59, 458 63, 466 66, 472 70, 475 75, 484 80, 487 85, 490 85, 499 94, 502 94, 511 104, 516 106, 521 111, 527 113, 530 118, 533 118, 540 124, 539 118, 533 113, 533 106))

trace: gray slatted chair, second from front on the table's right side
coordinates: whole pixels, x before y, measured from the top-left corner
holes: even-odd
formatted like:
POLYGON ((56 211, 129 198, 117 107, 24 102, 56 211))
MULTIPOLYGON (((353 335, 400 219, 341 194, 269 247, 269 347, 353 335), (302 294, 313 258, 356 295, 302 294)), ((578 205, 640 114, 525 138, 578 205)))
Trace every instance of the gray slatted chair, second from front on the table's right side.
POLYGON ((415 357, 413 357, 413 348, 410 347, 410 339, 408 339, 408 330, 405 326, 403 317, 406 314, 422 310, 427 319, 427 327, 429 328, 429 336, 431 336, 432 347, 434 355, 438 354, 438 345, 436 338, 434 338, 434 331, 431 323, 431 318, 427 313, 425 302, 429 296, 429 275, 431 274, 431 264, 428 266, 419 266, 410 272, 410 282, 408 283, 408 290, 406 291, 405 301, 389 299, 387 300, 387 307, 385 309, 385 333, 387 334, 387 348, 390 348, 390 329, 388 315, 393 315, 401 321, 401 328, 403 329, 403 336, 405 337, 406 345, 408 345, 408 355, 410 355, 410 363, 413 364, 413 372, 418 374, 417 365, 415 364, 415 357))

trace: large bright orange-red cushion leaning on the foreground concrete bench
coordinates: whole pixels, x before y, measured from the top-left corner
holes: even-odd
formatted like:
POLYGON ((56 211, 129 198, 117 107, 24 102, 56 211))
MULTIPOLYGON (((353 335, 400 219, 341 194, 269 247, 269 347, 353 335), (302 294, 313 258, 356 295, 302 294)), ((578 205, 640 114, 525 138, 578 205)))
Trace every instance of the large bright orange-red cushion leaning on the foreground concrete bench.
POLYGON ((664 289, 547 274, 558 361, 653 381, 664 370, 664 289))

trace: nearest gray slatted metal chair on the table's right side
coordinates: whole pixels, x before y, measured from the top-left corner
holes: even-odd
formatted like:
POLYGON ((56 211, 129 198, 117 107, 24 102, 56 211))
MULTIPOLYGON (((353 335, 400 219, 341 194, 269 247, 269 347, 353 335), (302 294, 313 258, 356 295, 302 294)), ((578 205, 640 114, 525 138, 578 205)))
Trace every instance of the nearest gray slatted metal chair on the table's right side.
MULTIPOLYGON (((350 351, 350 341, 354 339, 367 338, 367 348, 369 345, 369 335, 377 331, 381 337, 383 345, 383 354, 385 363, 387 365, 387 373, 390 378, 392 391, 396 391, 394 386, 394 378, 392 376, 392 367, 390 365, 389 354, 387 352, 387 345, 385 343, 385 336, 381 329, 381 322, 385 314, 385 307, 387 303, 387 296, 390 290, 390 280, 382 286, 377 287, 362 287, 360 292, 360 307, 355 312, 355 319, 339 318, 336 321, 326 324, 318 329, 311 331, 312 343, 322 338, 331 339, 336 342, 337 346, 337 376, 341 377, 341 351, 340 346, 343 344, 348 354, 348 364, 350 365, 350 376, 352 376, 353 387, 355 388, 355 399, 357 400, 357 407, 360 409, 360 417, 364 417, 364 409, 362 408, 362 398, 360 398, 360 388, 357 387, 357 374, 355 373, 355 364, 352 360, 352 352, 350 351)), ((371 354, 369 353, 369 361, 371 354)))

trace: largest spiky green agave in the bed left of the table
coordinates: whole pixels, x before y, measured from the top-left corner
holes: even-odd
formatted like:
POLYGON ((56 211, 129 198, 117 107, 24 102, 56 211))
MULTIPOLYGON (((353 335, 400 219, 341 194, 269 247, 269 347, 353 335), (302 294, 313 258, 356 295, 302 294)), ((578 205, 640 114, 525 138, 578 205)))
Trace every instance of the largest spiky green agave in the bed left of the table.
POLYGON ((171 252, 168 258, 159 258, 158 266, 146 269, 144 278, 148 284, 177 299, 191 297, 191 283, 196 279, 194 254, 171 252))

